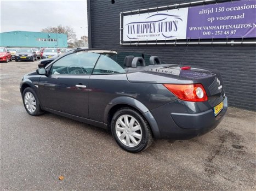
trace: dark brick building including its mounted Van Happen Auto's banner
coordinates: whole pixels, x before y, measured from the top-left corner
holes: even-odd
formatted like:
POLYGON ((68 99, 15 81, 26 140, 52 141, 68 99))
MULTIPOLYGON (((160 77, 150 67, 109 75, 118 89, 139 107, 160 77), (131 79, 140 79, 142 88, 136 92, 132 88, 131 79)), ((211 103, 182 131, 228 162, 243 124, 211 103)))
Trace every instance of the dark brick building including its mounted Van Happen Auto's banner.
POLYGON ((256 110, 255 0, 87 2, 90 48, 219 70, 229 105, 256 110))

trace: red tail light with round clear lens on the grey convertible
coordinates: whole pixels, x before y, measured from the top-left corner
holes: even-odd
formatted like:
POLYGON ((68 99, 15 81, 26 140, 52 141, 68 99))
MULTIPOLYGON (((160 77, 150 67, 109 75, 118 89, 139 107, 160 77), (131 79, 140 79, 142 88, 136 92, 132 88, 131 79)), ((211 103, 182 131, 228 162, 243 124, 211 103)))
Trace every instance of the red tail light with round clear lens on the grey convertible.
POLYGON ((175 96, 188 102, 204 102, 208 100, 201 83, 195 84, 164 84, 175 96))

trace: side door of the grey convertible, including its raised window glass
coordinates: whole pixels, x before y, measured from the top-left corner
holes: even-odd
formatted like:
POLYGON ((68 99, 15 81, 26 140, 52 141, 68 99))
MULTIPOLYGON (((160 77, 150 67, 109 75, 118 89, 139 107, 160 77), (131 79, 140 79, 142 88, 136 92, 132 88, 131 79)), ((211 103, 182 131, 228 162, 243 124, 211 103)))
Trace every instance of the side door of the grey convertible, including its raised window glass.
POLYGON ((50 65, 48 75, 40 78, 38 86, 44 108, 89 118, 89 76, 99 56, 98 53, 77 52, 50 65))

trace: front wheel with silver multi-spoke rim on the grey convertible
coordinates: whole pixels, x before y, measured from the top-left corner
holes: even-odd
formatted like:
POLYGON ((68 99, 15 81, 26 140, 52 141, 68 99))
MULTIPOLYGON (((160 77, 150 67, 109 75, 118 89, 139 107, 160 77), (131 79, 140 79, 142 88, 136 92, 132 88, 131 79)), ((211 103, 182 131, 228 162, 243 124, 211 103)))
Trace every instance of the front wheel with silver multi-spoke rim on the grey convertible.
POLYGON ((29 115, 38 116, 43 114, 36 92, 31 87, 24 89, 22 93, 23 105, 29 115))

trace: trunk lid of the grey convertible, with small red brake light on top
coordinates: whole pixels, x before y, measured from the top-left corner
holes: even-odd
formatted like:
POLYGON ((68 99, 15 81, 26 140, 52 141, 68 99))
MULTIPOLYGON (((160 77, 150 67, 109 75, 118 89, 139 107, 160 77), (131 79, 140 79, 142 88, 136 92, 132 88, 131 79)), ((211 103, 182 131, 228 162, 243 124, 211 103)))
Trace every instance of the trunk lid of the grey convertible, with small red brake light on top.
MULTIPOLYGON (((143 67, 141 67, 143 68, 143 67)), ((191 84, 201 83, 206 90, 208 102, 215 106, 224 99, 223 81, 218 71, 204 70, 179 65, 161 64, 161 67, 148 66, 144 70, 127 73, 132 83, 170 83, 191 84)))

